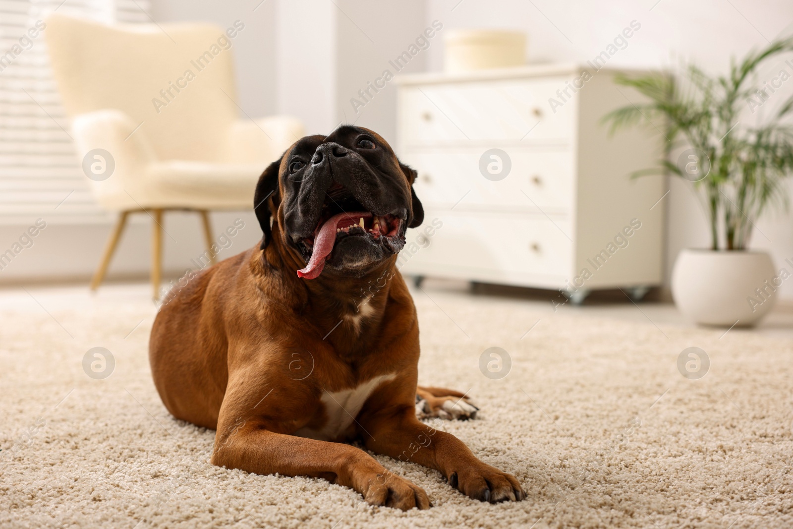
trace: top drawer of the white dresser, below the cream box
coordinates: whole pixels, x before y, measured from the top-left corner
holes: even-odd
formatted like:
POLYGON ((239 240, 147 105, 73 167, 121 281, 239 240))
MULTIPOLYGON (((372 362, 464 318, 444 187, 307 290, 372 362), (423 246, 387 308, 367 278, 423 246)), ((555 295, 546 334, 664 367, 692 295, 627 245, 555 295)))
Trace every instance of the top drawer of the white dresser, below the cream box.
POLYGON ((576 102, 556 113, 549 98, 566 78, 405 86, 400 90, 404 146, 468 140, 524 141, 573 138, 576 102), (531 131, 531 132, 530 132, 531 131))

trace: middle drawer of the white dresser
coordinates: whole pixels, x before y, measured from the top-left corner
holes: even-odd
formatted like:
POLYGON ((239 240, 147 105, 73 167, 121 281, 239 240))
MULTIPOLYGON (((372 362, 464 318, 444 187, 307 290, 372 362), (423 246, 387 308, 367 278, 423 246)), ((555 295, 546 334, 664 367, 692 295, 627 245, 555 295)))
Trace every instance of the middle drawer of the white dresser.
MULTIPOLYGON (((568 213, 573 209, 573 155, 570 151, 516 151, 506 148, 511 169, 501 180, 480 169, 484 150, 407 151, 405 163, 416 169, 416 194, 440 209, 542 209, 568 213)), ((506 160, 485 156, 485 163, 506 160)))

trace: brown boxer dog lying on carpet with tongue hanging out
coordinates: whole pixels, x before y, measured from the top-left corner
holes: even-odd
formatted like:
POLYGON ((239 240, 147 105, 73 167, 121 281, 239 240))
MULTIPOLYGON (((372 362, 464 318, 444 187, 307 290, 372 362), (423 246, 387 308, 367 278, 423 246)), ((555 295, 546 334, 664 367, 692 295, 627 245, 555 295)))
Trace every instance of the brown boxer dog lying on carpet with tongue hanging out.
MULTIPOLYGON (((395 265, 423 220, 414 178, 366 128, 306 136, 259 178, 260 246, 198 274, 160 310, 155 385, 175 417, 217 430, 213 464, 428 508, 423 489, 343 443, 361 439, 471 498, 523 500, 514 476, 416 419, 419 328, 395 265)), ((465 402, 447 389, 419 395, 435 412, 465 402)))

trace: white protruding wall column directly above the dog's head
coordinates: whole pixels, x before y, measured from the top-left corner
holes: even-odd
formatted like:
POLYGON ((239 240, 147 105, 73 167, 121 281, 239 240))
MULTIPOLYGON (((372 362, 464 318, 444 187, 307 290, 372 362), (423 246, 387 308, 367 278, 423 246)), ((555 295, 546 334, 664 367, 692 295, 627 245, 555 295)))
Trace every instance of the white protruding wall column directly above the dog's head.
MULTIPOLYGON (((340 123, 396 137, 393 82, 362 107, 351 105, 424 29, 423 0, 291 0, 278 2, 278 112, 300 117, 309 134, 327 134, 340 123)), ((439 43, 435 43, 439 46, 439 43)), ((403 72, 423 71, 426 52, 403 72)))

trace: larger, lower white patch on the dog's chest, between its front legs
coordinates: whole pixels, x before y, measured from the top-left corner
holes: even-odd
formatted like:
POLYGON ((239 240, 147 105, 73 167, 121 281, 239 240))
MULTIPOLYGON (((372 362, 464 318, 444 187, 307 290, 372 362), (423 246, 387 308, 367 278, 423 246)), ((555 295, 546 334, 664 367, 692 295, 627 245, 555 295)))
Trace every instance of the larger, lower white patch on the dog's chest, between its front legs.
POLYGON ((339 436, 347 431, 355 417, 358 416, 363 404, 366 404, 366 399, 377 389, 377 386, 393 380, 396 376, 396 374, 384 374, 355 388, 332 393, 325 391, 322 393, 321 401, 325 408, 325 416, 328 417, 327 422, 320 430, 302 427, 294 435, 320 441, 339 439, 339 436))

